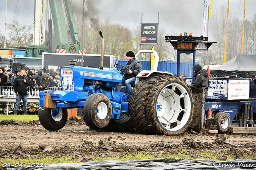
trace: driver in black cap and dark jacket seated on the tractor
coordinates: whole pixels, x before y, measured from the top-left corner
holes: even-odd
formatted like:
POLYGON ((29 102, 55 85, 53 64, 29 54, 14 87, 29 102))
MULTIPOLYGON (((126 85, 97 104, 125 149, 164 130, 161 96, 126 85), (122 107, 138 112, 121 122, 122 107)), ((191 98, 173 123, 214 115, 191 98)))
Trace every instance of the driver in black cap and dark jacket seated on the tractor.
POLYGON ((128 51, 126 53, 126 59, 128 62, 126 63, 125 67, 127 67, 129 70, 124 73, 124 77, 122 80, 122 83, 125 83, 127 93, 128 93, 128 98, 132 95, 132 84, 135 83, 135 77, 142 71, 142 65, 140 61, 134 58, 135 55, 132 51, 128 51))

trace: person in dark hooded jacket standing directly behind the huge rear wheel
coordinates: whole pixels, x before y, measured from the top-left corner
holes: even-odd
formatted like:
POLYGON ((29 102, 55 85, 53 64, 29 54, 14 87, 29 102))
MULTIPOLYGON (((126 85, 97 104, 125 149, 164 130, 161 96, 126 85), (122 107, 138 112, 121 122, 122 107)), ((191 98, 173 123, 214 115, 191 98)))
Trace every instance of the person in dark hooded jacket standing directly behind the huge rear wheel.
MULTIPOLYGON (((204 101, 208 96, 208 87, 209 87, 209 79, 208 79, 208 72, 202 70, 201 65, 195 65, 193 67, 195 72, 195 80, 194 83, 190 86, 191 88, 203 88, 204 89, 204 101)), ((204 110, 204 109, 203 109, 204 110)), ((204 124, 205 124, 205 111, 204 111, 204 124)))

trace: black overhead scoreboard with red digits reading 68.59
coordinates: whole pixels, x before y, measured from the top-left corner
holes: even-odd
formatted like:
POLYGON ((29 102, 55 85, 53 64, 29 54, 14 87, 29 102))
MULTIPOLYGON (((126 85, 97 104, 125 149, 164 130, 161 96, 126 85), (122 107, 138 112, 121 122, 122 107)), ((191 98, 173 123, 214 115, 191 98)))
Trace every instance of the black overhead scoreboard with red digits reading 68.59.
POLYGON ((207 42, 208 37, 192 37, 186 36, 186 34, 185 36, 165 36, 164 39, 166 42, 170 42, 174 49, 182 51, 208 50, 212 43, 216 43, 207 42))

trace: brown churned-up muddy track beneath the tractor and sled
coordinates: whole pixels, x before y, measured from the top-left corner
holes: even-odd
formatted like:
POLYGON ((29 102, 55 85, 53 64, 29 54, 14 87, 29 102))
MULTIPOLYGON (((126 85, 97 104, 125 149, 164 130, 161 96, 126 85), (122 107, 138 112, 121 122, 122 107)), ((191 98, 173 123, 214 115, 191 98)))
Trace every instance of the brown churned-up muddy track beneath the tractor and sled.
POLYGON ((81 119, 68 119, 64 128, 51 132, 40 122, 0 121, 0 158, 42 158, 44 156, 80 158, 121 157, 123 154, 176 155, 182 152, 192 158, 205 158, 204 152, 218 154, 226 160, 230 154, 255 156, 256 135, 207 134, 185 132, 181 136, 144 135, 138 132, 105 132, 90 130, 81 119))

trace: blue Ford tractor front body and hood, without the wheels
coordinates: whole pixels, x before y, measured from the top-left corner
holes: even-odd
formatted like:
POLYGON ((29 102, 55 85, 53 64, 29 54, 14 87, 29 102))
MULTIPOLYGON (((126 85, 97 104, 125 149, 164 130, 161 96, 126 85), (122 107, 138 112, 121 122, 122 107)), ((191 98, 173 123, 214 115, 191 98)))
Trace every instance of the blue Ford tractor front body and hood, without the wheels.
POLYGON ((55 102, 56 110, 78 108, 82 116, 82 108, 88 96, 102 93, 111 101, 112 119, 119 119, 121 112, 128 112, 127 94, 116 89, 123 78, 117 69, 60 67, 60 75, 62 91, 41 91, 40 107, 49 107, 50 100, 55 102))

